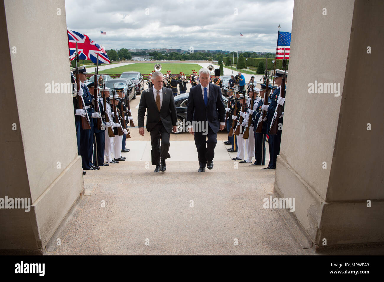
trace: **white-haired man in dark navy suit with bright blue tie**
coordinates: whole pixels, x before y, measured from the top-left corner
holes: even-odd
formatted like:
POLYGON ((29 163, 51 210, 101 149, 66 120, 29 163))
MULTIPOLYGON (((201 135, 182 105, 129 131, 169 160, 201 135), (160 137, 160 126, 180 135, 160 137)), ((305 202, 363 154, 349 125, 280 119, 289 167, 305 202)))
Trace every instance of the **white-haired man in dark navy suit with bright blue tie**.
POLYGON ((194 131, 192 125, 188 126, 189 133, 195 135, 200 164, 198 172, 205 172, 205 165, 210 170, 214 167, 217 132, 219 129, 223 130, 225 125, 225 108, 220 87, 209 83, 209 78, 209 69, 200 69, 200 83, 190 89, 187 105, 187 122, 195 125, 198 122, 201 129, 207 129, 207 132, 194 131), (202 126, 203 123, 206 126, 202 126))

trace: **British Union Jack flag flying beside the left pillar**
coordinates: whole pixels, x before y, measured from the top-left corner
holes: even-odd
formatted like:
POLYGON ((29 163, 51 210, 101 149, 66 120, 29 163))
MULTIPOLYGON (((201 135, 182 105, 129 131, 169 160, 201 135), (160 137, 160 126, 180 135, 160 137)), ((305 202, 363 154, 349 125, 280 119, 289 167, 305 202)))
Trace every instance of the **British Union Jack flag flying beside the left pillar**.
POLYGON ((75 58, 77 42, 80 60, 91 60, 93 63, 96 63, 97 54, 99 54, 99 64, 111 63, 104 48, 95 41, 90 40, 87 35, 73 30, 67 30, 67 33, 71 61, 75 58))

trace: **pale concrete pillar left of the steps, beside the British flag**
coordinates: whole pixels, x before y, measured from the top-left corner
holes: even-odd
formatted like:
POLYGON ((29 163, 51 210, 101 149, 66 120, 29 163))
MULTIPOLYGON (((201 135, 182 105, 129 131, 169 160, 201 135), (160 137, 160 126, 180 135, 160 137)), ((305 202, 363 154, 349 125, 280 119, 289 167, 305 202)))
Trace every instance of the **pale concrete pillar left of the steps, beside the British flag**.
POLYGON ((0 249, 41 249, 83 189, 72 97, 61 89, 71 82, 65 2, 41 4, 0 1, 0 198, 31 203, 0 209, 0 249))

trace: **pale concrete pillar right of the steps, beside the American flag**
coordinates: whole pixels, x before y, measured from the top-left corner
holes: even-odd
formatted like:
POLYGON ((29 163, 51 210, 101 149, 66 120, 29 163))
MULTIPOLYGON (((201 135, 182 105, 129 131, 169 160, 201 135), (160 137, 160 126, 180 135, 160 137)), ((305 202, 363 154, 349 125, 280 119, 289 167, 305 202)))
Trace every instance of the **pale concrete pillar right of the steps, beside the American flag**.
POLYGON ((381 0, 295 1, 275 191, 296 199, 318 249, 384 241, 383 10, 381 0), (310 94, 315 81, 340 95, 310 94))

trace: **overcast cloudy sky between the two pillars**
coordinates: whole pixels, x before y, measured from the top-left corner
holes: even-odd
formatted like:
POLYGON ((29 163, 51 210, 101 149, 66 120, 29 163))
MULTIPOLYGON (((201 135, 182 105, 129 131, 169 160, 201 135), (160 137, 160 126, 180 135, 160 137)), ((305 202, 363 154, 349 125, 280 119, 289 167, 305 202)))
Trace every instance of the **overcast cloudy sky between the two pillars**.
POLYGON ((293 0, 65 0, 65 10, 69 30, 106 49, 274 52, 278 25, 291 32, 293 0))

